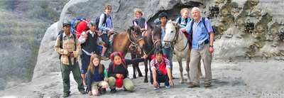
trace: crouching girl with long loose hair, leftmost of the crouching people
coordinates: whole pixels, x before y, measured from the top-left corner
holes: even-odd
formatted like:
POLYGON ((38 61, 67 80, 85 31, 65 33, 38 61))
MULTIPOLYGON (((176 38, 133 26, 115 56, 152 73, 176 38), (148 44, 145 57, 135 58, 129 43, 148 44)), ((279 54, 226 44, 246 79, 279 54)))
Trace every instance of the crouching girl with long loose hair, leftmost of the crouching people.
POLYGON ((109 87, 107 77, 104 77, 104 65, 100 64, 98 55, 92 54, 91 56, 87 78, 87 92, 89 95, 99 96, 99 94, 104 94, 106 88, 109 87))

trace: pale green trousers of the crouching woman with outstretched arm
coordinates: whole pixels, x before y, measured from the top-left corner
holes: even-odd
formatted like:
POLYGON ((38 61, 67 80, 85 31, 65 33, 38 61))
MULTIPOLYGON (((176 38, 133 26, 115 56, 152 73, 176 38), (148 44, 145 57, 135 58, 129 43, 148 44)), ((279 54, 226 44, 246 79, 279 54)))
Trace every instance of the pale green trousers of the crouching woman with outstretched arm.
MULTIPOLYGON (((124 82, 123 83, 124 89, 126 89, 127 91, 130 91, 130 92, 133 92, 133 89, 134 89, 133 82, 131 80, 129 80, 128 78, 125 78, 123 82, 124 82)), ((109 88, 110 89, 116 88, 116 78, 109 77, 109 88)))

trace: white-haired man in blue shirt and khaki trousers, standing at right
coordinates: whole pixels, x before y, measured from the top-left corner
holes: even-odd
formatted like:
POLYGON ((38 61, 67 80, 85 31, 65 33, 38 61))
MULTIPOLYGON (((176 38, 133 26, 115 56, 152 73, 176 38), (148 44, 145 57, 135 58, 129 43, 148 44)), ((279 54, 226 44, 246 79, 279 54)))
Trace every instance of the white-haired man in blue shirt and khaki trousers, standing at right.
POLYGON ((190 77, 192 83, 190 83, 189 88, 200 87, 200 75, 197 66, 201 59, 203 60, 205 69, 204 87, 211 87, 214 32, 211 22, 208 18, 202 19, 200 12, 200 9, 197 7, 192 8, 192 17, 194 20, 187 23, 187 26, 181 29, 182 32, 186 31, 192 35, 192 50, 190 53, 190 77))

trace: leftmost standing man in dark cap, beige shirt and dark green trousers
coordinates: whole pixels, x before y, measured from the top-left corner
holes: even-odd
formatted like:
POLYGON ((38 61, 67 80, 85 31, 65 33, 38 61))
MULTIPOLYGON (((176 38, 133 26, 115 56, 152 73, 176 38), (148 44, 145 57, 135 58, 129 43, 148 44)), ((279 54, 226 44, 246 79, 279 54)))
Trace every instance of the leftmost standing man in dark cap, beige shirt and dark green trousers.
POLYGON ((63 97, 69 97, 70 95, 70 71, 72 71, 80 93, 86 94, 86 92, 84 92, 82 78, 80 77, 80 67, 77 61, 77 57, 80 53, 80 43, 78 43, 75 34, 70 33, 70 28, 71 23, 63 23, 64 32, 59 34, 54 46, 54 50, 60 54, 63 97))

